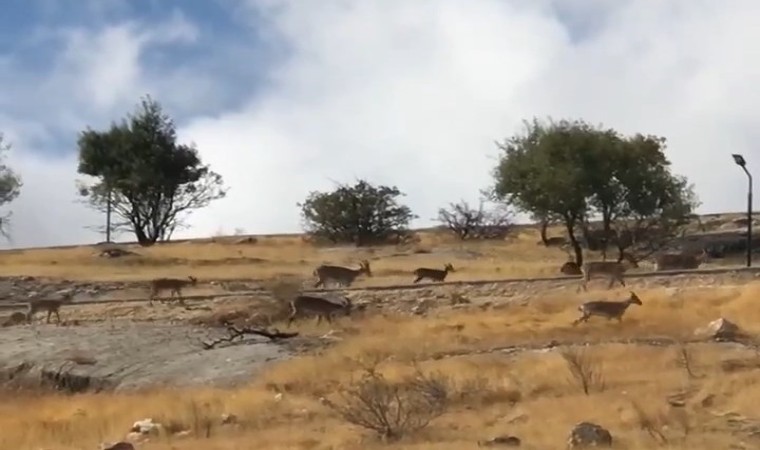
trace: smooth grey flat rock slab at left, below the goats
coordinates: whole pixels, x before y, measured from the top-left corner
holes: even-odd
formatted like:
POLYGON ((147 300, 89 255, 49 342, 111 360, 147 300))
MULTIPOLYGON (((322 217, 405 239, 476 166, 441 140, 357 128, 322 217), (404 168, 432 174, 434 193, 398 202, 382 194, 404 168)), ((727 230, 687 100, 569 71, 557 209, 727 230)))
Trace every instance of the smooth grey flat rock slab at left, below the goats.
POLYGON ((281 344, 250 337, 204 350, 200 340, 224 330, 168 323, 114 321, 82 326, 0 329, 0 370, 32 364, 107 381, 116 390, 155 385, 231 386, 250 381, 267 363, 286 359, 281 344), (79 363, 77 363, 79 361, 79 363))

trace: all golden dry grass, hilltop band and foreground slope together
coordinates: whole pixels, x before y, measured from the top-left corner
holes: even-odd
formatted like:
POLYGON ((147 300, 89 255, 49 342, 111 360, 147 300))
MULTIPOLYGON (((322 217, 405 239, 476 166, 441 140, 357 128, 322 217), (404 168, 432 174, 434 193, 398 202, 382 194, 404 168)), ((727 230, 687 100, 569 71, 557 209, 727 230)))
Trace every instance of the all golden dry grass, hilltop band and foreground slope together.
MULTIPOLYGON (((426 236, 410 248, 362 251, 315 249, 297 238, 260 239, 250 245, 183 243, 136 250, 144 255, 143 263, 97 258, 92 248, 28 250, 0 254, 0 273, 91 280, 188 272, 206 279, 269 278, 307 276, 321 262, 374 257, 379 258, 372 263, 375 276, 357 284, 408 283, 410 270, 444 261, 461 268, 452 279, 556 275, 566 256, 536 245, 537 240, 534 233, 503 244, 457 244, 426 236), (403 256, 391 256, 397 253, 403 256), (481 256, 475 259, 476 254, 481 256), (235 258, 266 261, 230 262, 235 258), (185 262, 161 264, 179 260, 185 262)), ((680 346, 609 343, 624 338, 690 340, 695 328, 721 316, 751 335, 760 333, 760 282, 695 282, 683 289, 636 291, 643 305, 632 306, 621 324, 591 319, 573 327, 576 307, 585 299, 623 299, 627 294, 624 289, 576 294, 574 286, 527 304, 504 303, 485 310, 442 308, 427 316, 386 313, 341 318, 332 326, 305 321, 299 324, 302 333, 321 335, 332 328, 341 340, 277 363, 249 385, 230 390, 157 388, 76 396, 2 392, 0 449, 97 448, 100 442, 121 439, 134 421, 145 417, 190 433, 152 438, 138 444, 141 450, 462 450, 503 434, 520 437, 522 448, 560 449, 572 426, 581 421, 609 429, 620 449, 760 447, 760 438, 734 429, 735 421, 729 418, 735 416, 726 415, 745 416, 747 423, 757 420, 760 429, 760 354, 730 345, 686 344, 695 375, 691 377, 678 364, 680 346), (585 395, 558 351, 489 351, 552 340, 594 344, 586 347, 585 357, 601 373, 604 388, 585 395), (731 361, 734 370, 727 365, 731 361), (440 374, 450 396, 446 412, 421 431, 382 442, 320 402, 327 397, 340 403, 339 394, 370 365, 391 381, 408 376, 415 366, 440 374), (278 393, 283 394, 280 400, 278 393), (685 407, 666 402, 677 393, 685 393, 685 407), (220 425, 222 413, 235 414, 239 423, 220 425)))

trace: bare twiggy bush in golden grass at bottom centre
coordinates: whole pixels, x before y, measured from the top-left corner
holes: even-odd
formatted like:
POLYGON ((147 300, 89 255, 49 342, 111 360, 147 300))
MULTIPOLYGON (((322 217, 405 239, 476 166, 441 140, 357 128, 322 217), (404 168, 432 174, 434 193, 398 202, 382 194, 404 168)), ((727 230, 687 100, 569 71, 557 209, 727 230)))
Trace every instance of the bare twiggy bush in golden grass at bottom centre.
POLYGON ((390 381, 374 368, 339 395, 339 403, 325 400, 343 420, 372 430, 383 439, 398 439, 425 428, 442 415, 449 404, 449 383, 440 374, 390 381))

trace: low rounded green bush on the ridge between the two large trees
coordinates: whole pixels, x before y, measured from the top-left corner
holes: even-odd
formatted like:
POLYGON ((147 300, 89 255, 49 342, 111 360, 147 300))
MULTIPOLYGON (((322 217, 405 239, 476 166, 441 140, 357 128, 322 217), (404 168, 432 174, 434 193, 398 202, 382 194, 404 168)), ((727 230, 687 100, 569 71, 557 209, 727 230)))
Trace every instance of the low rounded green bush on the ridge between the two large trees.
POLYGON ((399 242, 409 235, 417 216, 399 204, 404 194, 395 186, 359 180, 331 192, 311 192, 299 203, 304 228, 313 237, 357 246, 399 242))

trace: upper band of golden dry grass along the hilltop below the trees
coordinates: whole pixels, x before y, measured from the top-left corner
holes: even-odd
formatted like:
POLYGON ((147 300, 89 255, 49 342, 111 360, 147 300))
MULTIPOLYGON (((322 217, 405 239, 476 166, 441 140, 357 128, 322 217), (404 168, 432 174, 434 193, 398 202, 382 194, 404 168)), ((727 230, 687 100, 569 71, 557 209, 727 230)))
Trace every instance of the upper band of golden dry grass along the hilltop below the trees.
MULTIPOLYGON (((559 230, 555 231, 560 234, 559 230)), ((270 279, 286 275, 311 277, 322 263, 356 266, 367 259, 372 278, 360 277, 357 285, 408 284, 420 266, 443 268, 452 263, 450 280, 555 276, 567 260, 558 248, 538 245, 538 233, 524 229, 502 242, 462 243, 441 232, 421 232, 420 242, 397 247, 356 249, 315 247, 296 237, 261 237, 256 243, 239 239, 131 246, 137 253, 121 258, 99 257, 92 246, 66 249, 29 249, 0 252, 0 276, 32 275, 71 280, 127 281, 153 277, 206 279, 270 279)))

